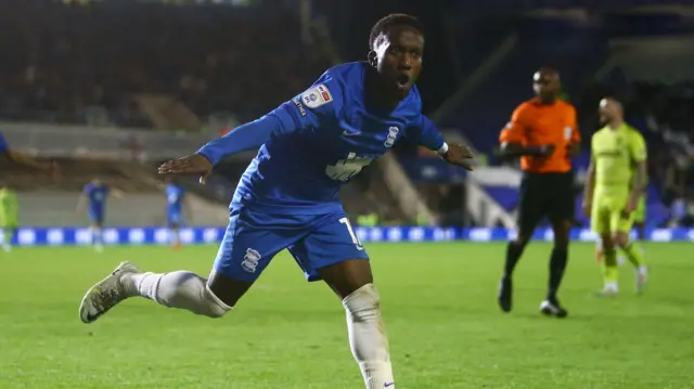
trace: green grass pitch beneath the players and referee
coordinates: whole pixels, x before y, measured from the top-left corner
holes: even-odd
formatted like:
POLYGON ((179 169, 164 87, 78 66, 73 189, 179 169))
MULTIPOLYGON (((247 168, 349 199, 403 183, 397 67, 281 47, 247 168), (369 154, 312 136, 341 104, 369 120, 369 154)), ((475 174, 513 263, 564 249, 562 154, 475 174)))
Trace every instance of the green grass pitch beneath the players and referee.
MULTIPOLYGON (((532 244, 515 277, 515 307, 496 304, 497 243, 371 244, 400 389, 694 388, 691 244, 651 244, 651 285, 599 299, 591 244, 571 247, 566 320, 538 313, 550 245, 532 244)), ((217 248, 18 248, 0 252, 0 388, 359 389, 339 300, 275 258, 234 311, 209 320, 144 299, 99 322, 82 294, 119 261, 208 274, 217 248)))

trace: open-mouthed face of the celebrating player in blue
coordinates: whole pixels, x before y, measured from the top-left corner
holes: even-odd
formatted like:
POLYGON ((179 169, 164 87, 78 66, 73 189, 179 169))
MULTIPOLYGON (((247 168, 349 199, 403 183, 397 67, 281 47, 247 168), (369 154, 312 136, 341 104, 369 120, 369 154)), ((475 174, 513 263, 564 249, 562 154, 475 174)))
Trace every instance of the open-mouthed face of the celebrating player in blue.
POLYGON ((403 99, 422 70, 424 37, 412 27, 396 26, 376 39, 374 51, 376 69, 384 85, 403 99))

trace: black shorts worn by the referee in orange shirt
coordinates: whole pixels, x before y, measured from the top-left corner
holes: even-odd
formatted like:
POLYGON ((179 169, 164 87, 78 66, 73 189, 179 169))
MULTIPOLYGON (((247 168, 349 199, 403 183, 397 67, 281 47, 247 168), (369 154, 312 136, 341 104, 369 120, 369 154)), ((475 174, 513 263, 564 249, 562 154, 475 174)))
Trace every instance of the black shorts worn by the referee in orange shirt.
POLYGON ((518 199, 518 229, 532 231, 548 217, 550 221, 574 221, 574 172, 524 172, 518 199))

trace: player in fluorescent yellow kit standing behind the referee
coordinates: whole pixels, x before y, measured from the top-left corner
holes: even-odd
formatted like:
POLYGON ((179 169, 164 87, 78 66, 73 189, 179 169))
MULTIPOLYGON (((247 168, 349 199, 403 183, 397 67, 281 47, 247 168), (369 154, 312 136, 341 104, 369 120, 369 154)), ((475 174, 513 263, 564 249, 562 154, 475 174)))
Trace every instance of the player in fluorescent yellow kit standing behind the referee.
POLYGON ((643 197, 646 174, 646 146, 639 131, 624 121, 621 104, 603 99, 600 113, 605 127, 591 140, 591 163, 588 167, 583 212, 591 218, 591 228, 600 234, 603 246, 604 296, 616 295, 618 263, 616 247, 635 267, 637 291, 643 290, 647 267, 640 250, 630 242, 634 211, 643 197))

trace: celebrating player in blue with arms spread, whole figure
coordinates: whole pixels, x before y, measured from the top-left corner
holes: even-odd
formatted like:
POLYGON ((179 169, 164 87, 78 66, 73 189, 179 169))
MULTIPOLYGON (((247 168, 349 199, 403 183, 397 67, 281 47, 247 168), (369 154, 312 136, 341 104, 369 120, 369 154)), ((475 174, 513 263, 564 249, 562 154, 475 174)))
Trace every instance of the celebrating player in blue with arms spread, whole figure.
POLYGON ((402 137, 453 165, 468 168, 472 153, 444 142, 421 113, 414 87, 424 51, 420 22, 388 15, 373 27, 370 47, 368 62, 330 68, 268 115, 159 167, 164 174, 198 173, 204 182, 223 157, 260 146, 234 193, 208 280, 188 271, 142 273, 124 262, 86 294, 81 320, 91 323, 132 296, 222 316, 286 248, 308 281, 325 281, 342 299, 365 387, 395 388, 369 256, 339 189, 402 137))

